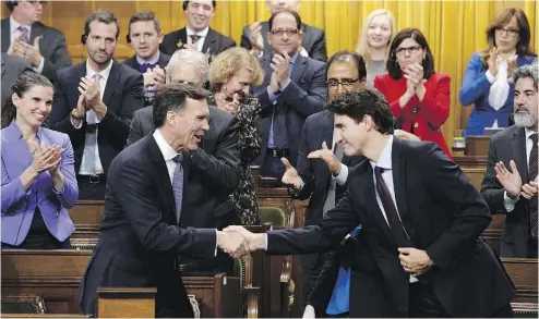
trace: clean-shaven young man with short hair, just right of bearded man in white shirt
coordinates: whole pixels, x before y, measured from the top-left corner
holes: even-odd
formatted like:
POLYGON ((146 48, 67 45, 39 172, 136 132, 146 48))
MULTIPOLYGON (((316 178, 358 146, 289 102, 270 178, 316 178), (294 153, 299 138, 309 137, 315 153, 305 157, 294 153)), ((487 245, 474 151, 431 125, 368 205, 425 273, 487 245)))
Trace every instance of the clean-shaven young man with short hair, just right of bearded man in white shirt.
POLYGON ((123 64, 144 75, 144 105, 152 105, 156 86, 165 84, 165 66, 170 56, 159 51, 163 42, 163 32, 159 20, 153 11, 136 12, 129 20, 128 44, 133 47, 135 54, 123 64))

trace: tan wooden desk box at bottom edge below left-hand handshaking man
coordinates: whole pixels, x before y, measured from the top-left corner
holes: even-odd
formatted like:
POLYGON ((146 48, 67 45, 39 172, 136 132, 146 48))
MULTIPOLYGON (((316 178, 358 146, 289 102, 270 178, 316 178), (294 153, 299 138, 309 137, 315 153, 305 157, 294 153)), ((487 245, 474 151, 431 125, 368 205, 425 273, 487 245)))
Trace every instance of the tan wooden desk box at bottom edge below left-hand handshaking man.
POLYGON ((155 318, 156 294, 156 289, 98 289, 97 316, 98 318, 155 318))

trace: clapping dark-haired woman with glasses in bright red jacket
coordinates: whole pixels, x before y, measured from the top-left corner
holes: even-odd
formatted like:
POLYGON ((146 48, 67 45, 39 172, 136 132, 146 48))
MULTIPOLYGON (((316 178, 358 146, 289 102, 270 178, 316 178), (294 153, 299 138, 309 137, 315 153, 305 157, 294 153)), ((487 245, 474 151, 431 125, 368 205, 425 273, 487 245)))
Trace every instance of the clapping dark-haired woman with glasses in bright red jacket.
POLYGON ((419 29, 405 28, 395 36, 390 47, 387 72, 374 78, 374 87, 390 102, 402 130, 436 143, 451 158, 440 131, 450 116, 451 78, 435 73, 434 58, 419 29))

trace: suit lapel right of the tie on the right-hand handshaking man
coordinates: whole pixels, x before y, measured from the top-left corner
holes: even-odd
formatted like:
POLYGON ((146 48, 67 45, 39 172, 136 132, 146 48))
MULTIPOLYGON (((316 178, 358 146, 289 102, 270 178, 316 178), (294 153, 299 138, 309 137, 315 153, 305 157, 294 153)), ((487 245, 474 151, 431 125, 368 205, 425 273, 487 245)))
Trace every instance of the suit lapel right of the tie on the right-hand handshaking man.
POLYGON ((393 171, 393 187, 395 191, 395 200, 397 201, 397 210, 406 232, 410 236, 411 242, 416 238, 416 231, 412 226, 410 216, 408 213, 407 196, 406 196, 406 159, 403 155, 403 142, 398 138, 393 139, 392 150, 392 171, 393 171))

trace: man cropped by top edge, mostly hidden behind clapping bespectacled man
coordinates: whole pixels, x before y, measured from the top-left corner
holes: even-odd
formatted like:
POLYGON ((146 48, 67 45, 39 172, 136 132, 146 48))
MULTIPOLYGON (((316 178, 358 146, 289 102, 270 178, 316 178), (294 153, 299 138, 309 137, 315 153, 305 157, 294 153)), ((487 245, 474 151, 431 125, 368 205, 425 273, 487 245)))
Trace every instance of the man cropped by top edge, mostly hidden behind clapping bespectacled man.
MULTIPOLYGON (((272 14, 289 10, 298 12, 300 7, 299 0, 267 0, 267 10, 272 14)), ((325 47, 325 34, 324 30, 308 24, 301 24, 301 30, 303 33, 303 39, 301 41, 300 54, 309 57, 323 62, 327 61, 327 51, 325 47)), ((272 48, 267 41, 270 33, 268 22, 254 22, 251 25, 243 27, 241 34, 241 47, 253 50, 254 54, 267 54, 272 52, 272 48)))

